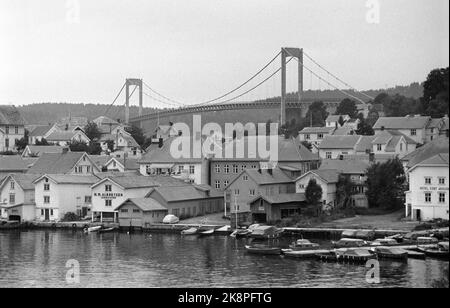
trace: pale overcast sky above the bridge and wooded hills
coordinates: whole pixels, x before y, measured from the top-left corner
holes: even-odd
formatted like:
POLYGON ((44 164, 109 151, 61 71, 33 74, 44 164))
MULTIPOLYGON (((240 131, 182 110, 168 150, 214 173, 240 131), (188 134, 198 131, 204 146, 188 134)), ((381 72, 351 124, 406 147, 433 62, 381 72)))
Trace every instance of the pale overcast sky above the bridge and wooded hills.
MULTIPOLYGON (((448 6, 448 0, 0 0, 0 104, 110 104, 126 78, 199 103, 248 79, 281 47, 303 48, 360 90, 422 82, 449 65, 448 6)), ((278 67, 277 60, 269 69, 278 67)), ((279 88, 274 78, 254 95, 279 95, 279 88)), ((305 88, 325 85, 305 71, 305 88)), ((167 107, 148 96, 144 105, 167 107)))

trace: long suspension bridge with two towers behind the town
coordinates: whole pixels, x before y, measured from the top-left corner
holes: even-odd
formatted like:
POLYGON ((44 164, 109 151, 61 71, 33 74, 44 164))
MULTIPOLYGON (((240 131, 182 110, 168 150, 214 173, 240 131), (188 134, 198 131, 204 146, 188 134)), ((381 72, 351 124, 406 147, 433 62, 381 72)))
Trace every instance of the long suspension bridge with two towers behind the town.
MULTIPOLYGON (((192 125, 190 114, 200 114, 207 122, 219 124, 227 122, 262 121, 287 123, 303 117, 314 98, 305 97, 305 86, 309 91, 338 91, 357 103, 366 104, 373 97, 357 90, 349 83, 331 73, 308 53, 300 48, 282 48, 262 68, 235 88, 203 102, 187 103, 162 94, 142 79, 129 78, 122 85, 113 102, 107 107, 105 115, 117 103, 125 91, 125 122, 141 127, 151 133, 159 124, 184 122, 192 125), (279 61, 279 62, 278 62, 279 61), (281 64, 278 64, 281 63, 281 64), (294 64, 294 65, 292 65, 294 64), (305 75, 309 74, 308 80, 305 75), (130 92, 131 90, 131 92, 130 92), (138 116, 130 118, 130 101, 138 91, 138 116), (146 107, 165 106, 150 114, 143 114, 144 96, 150 104, 146 107)), ((329 110, 335 109, 340 99, 322 97, 329 110)))

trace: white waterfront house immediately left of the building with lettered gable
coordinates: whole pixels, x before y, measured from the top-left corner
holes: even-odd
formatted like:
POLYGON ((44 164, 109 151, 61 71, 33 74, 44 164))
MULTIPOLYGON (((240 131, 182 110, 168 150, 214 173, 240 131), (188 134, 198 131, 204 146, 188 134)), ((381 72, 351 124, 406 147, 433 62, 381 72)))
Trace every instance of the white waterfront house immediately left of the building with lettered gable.
POLYGON ((37 178, 35 187, 36 219, 60 221, 67 213, 88 217, 92 206, 91 186, 94 175, 45 174, 37 178))

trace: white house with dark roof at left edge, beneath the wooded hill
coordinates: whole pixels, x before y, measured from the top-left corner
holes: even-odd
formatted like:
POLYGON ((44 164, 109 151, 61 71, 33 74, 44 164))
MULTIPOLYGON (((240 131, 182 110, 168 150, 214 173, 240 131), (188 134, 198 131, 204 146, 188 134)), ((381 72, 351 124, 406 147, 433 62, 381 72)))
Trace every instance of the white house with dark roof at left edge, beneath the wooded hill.
POLYGON ((25 119, 14 106, 0 106, 0 152, 15 151, 25 136, 25 119))

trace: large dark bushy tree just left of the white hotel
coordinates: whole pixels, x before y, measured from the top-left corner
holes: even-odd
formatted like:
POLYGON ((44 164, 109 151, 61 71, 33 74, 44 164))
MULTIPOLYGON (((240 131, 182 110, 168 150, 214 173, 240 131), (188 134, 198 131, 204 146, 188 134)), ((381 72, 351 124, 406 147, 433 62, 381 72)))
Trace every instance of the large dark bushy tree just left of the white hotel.
POLYGON ((398 158, 376 163, 367 169, 367 198, 369 206, 397 209, 403 206, 406 176, 398 158))

